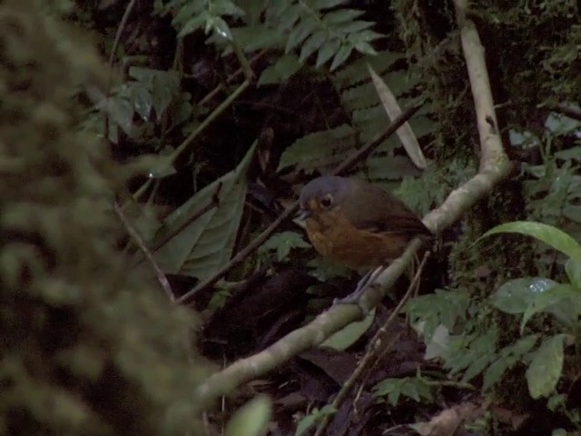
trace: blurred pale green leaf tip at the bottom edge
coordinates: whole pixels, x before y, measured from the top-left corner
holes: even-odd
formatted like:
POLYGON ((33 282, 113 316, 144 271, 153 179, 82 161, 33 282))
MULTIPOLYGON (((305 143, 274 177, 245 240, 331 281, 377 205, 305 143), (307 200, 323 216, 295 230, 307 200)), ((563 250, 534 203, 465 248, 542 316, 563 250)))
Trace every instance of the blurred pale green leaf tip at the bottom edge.
POLYGON ((226 425, 226 436, 261 436, 266 434, 271 421, 272 403, 266 396, 259 396, 244 404, 234 413, 226 425))

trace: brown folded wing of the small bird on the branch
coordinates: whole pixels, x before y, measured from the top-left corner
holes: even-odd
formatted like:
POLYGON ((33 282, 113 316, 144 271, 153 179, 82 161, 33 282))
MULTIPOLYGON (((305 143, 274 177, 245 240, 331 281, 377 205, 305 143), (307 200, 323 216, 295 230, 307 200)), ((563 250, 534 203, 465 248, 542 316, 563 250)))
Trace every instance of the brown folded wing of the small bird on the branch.
POLYGON ((359 229, 378 233, 432 234, 399 198, 371 183, 353 180, 341 209, 359 229))

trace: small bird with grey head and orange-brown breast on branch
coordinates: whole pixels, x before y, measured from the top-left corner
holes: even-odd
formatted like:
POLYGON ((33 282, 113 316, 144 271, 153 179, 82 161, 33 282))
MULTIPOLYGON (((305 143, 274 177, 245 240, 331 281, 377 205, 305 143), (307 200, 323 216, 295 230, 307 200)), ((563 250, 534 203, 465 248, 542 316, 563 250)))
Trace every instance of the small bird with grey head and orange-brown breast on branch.
MULTIPOLYGON (((302 188, 299 203, 299 219, 315 250, 358 272, 387 266, 416 236, 433 237, 394 194, 358 178, 320 176, 302 188)), ((358 291, 368 282, 369 274, 358 291)))

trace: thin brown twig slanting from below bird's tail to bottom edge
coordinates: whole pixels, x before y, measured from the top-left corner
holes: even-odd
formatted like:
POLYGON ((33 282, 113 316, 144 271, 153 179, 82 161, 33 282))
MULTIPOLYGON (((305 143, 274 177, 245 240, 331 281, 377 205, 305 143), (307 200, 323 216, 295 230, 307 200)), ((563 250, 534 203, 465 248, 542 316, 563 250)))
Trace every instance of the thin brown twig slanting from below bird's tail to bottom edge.
MULTIPOLYGON (((426 265, 426 261, 428 260, 428 256, 429 256, 429 252, 426 252, 424 254, 424 257, 423 257, 421 263, 419 264, 418 272, 416 272, 416 275, 414 276, 412 281, 409 283, 408 291, 403 296, 403 298, 399 301, 398 305, 393 310, 393 312, 391 312, 391 314, 389 315, 386 322, 383 323, 381 328, 373 336, 373 339, 369 342, 371 344, 371 346, 369 347, 369 350, 365 354, 365 356, 363 356, 363 358, 359 361, 359 365, 357 366, 355 371, 351 374, 350 378, 347 381, 345 381, 345 383, 343 383, 343 386, 341 387, 339 393, 335 397, 335 400, 333 400, 333 402, 331 404, 332 407, 335 408, 335 410, 339 410, 341 402, 343 402, 343 400, 347 397, 347 395, 351 391, 351 388, 359 380, 359 377, 361 376, 361 374, 369 367, 369 364, 371 362, 373 362, 376 358, 379 358, 380 353, 385 355, 385 353, 387 353, 389 351, 389 349, 390 349, 389 346, 385 346, 383 348, 383 351, 380 351, 381 343, 383 342, 383 339, 388 336, 388 330, 391 327, 391 324, 393 324, 396 317, 399 315, 399 312, 401 312, 401 309, 403 308, 403 306, 406 304, 406 302, 408 302, 409 298, 414 293, 414 289, 416 288, 416 284, 419 283, 419 278, 421 276, 421 272, 424 269, 424 266, 426 265)), ((319 424, 319 427, 317 428, 317 432, 315 433, 315 436, 320 436, 322 434, 322 432, 327 427, 327 424, 329 424, 329 421, 330 421, 330 415, 326 415, 323 418, 323 420, 320 421, 320 424, 319 424)))

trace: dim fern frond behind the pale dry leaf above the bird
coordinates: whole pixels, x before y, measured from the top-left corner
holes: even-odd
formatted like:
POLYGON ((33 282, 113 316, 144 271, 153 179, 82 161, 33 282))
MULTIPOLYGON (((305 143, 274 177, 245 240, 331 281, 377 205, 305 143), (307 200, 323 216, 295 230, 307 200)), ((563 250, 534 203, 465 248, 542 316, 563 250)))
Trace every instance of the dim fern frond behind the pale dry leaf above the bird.
MULTIPOLYGON (((347 65, 332 76, 333 84, 341 97, 345 112, 350 114, 350 128, 353 137, 361 143, 369 142, 373 137, 385 131, 389 125, 389 117, 379 101, 379 96, 369 76, 368 63, 373 65, 381 78, 388 84, 389 89, 398 97, 402 107, 414 104, 418 95, 419 79, 406 70, 397 69, 399 61, 405 59, 404 54, 383 52, 377 56, 364 56, 358 61, 347 65)), ((435 123, 429 119, 429 107, 423 108, 420 113, 409 121, 412 131, 417 138, 430 134, 435 129, 435 123)), ((329 163, 340 163, 355 150, 356 143, 351 147, 334 150, 331 144, 320 144, 315 138, 324 138, 325 132, 310 134, 287 150, 282 155, 281 168, 296 164, 299 169, 312 172, 319 168, 322 173, 330 169, 329 163), (328 164, 321 167, 321 161, 328 164)), ((407 156, 394 156, 393 151, 401 146, 399 138, 390 136, 379 145, 376 152, 371 154, 367 165, 363 167, 362 176, 373 181, 400 179, 404 176, 418 175, 407 156), (404 163, 407 162, 407 163, 404 163)))

